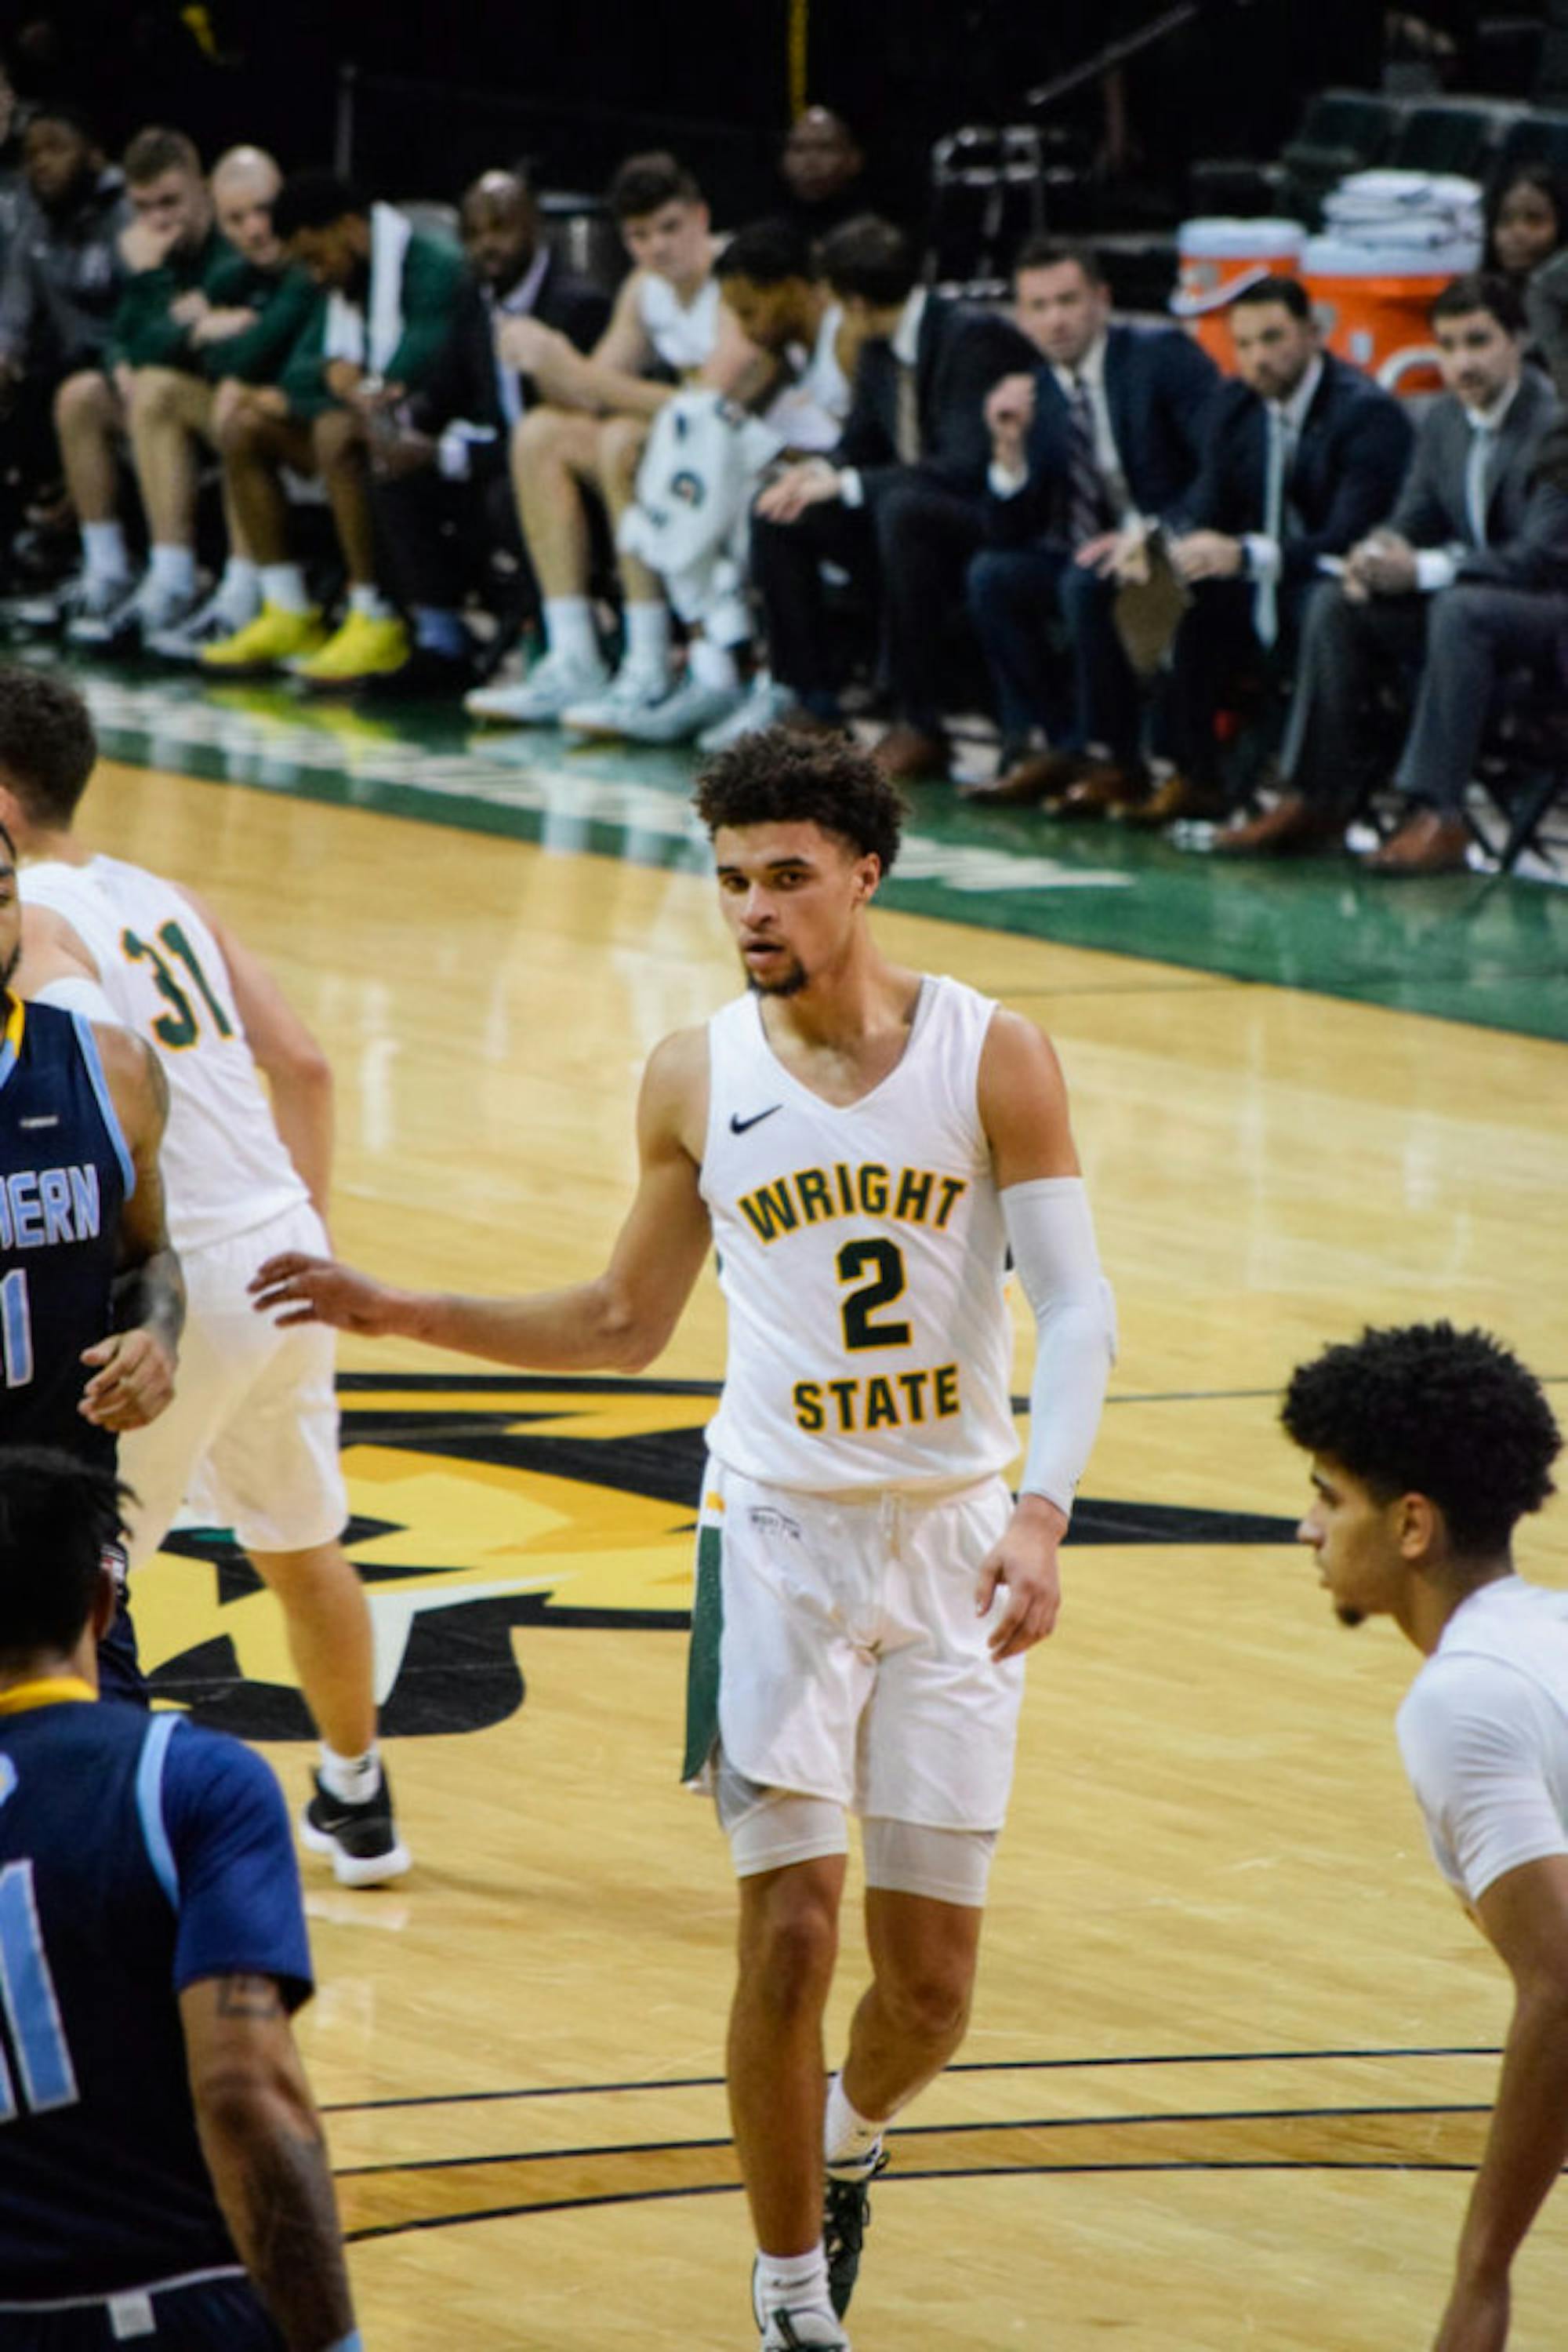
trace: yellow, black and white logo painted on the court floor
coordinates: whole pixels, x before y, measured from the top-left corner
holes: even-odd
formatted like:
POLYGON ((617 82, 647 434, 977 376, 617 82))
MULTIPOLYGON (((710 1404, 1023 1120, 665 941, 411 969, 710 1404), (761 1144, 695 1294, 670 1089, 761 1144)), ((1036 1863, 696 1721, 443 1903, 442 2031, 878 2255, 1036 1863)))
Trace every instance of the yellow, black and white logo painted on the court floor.
MULTIPOLYGON (((339 1376, 346 1545, 369 1592, 383 1733, 505 1722, 527 1696, 529 1625, 689 1628, 717 1395, 715 1381, 339 1376)), ((1293 1529, 1084 1496, 1072 1541, 1260 1545, 1293 1529)), ((155 1700, 240 1738, 313 1738, 282 1611, 228 1531, 169 1536, 132 1611, 155 1700)))

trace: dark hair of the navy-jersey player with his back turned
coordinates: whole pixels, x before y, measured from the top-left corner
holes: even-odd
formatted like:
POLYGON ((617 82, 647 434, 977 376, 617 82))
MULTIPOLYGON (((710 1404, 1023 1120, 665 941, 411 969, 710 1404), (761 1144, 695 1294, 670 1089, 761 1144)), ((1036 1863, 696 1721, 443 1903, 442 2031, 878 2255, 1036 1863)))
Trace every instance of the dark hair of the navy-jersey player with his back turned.
POLYGON ((75 1454, 0 1451, 0 1658, 75 1649, 125 1496, 113 1470, 75 1454))

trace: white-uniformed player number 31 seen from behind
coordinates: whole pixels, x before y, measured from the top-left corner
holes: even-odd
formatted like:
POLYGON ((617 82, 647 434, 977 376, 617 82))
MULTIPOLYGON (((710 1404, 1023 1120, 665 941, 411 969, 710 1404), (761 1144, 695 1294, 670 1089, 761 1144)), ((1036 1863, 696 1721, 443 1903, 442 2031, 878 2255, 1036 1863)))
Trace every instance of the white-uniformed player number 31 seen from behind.
POLYGON ((0 823, 26 861, 16 985, 134 1030, 169 1084, 162 1171, 188 1317, 172 1406, 120 1442, 129 1564, 158 1552, 186 1496, 233 1526, 282 1602, 322 1733, 301 1837, 341 1884, 378 1886, 409 1856, 376 1748, 369 1606, 339 1541, 331 1341, 268 1334, 247 1312, 266 1256, 327 1240, 331 1073, 277 983, 195 896, 78 842, 94 760, 75 687, 0 668, 0 823))

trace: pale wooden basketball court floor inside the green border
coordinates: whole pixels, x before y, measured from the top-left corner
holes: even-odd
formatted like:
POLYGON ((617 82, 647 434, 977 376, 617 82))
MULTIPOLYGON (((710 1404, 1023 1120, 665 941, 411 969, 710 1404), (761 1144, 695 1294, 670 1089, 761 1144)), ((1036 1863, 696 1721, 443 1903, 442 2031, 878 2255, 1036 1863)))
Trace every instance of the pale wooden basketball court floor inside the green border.
MULTIPOLYGON (((602 1263, 642 1058, 736 985, 701 875, 158 771, 106 769, 89 811, 101 847, 200 884, 327 1042, 346 1256, 463 1289, 602 1263)), ((853 2343, 1420 2347, 1507 1980, 1401 1778, 1415 1653, 1331 1618, 1274 1411, 1363 1319, 1483 1322, 1563 1383, 1563 1047, 910 915, 882 934, 1056 1037, 1121 1362, 1030 1668, 973 2032, 896 2138, 853 2343)), ((675 1783, 717 1289, 644 1381, 341 1364, 416 1853, 355 1896, 303 1863, 301 2042, 367 2347, 748 2347, 731 1882, 675 1783)), ((1568 1581, 1561 1503, 1521 1562, 1568 1581)), ((277 1733, 299 1797, 277 1616, 233 1555, 176 1538, 136 1616, 165 1698, 277 1733)), ((858 1973, 849 1917, 835 2046, 858 1973)), ((1559 2194, 1519 2352, 1561 2345, 1566 2291, 1559 2194)))

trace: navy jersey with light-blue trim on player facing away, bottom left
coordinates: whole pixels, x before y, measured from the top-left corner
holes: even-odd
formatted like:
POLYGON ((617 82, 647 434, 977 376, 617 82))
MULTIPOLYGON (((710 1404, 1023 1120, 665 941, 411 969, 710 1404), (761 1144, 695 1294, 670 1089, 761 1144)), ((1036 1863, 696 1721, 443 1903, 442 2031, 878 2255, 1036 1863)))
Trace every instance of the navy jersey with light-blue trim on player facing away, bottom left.
POLYGON ((299 1865, 261 1757, 85 1684, 0 1691, 5 2314, 240 2279, 186 2079, 179 1994, 310 1994, 299 1865))

